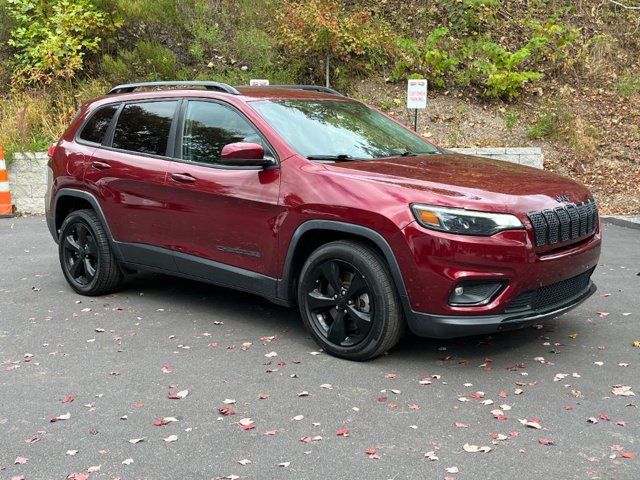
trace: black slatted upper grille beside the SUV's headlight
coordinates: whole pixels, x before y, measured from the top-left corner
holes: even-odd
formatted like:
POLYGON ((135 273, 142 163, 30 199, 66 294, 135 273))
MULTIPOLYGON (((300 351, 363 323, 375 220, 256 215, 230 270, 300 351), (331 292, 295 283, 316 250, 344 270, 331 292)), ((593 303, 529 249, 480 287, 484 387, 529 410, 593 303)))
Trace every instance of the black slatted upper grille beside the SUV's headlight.
POLYGON ((527 216, 536 247, 581 239, 591 235, 598 226, 598 206, 593 199, 530 212, 527 216))

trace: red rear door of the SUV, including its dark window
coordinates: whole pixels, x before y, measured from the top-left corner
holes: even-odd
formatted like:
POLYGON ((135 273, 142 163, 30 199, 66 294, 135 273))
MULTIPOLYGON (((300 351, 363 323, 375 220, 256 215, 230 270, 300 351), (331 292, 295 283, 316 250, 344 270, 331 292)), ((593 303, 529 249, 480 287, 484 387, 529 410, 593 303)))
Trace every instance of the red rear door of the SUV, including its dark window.
POLYGON ((180 102, 123 103, 85 171, 114 239, 167 246, 167 152, 173 151, 180 102))

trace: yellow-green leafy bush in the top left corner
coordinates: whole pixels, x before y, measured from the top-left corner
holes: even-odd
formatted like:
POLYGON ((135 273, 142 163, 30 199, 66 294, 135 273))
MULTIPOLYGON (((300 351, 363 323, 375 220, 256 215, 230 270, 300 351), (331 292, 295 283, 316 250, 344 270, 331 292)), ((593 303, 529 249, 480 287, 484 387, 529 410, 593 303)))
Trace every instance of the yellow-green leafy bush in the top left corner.
POLYGON ((15 86, 73 78, 115 28, 89 0, 6 0, 5 8, 15 23, 8 42, 15 86))

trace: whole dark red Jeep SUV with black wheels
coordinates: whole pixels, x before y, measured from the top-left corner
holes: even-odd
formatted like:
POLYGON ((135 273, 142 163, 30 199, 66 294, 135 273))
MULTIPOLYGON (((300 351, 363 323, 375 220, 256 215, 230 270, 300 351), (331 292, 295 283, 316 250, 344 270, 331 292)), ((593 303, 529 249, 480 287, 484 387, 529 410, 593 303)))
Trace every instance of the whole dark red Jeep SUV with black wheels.
POLYGON ((211 282, 297 305, 326 351, 365 360, 405 326, 510 330, 595 291, 585 187, 442 150, 323 87, 120 85, 50 156, 47 222, 84 295, 137 270, 211 282))

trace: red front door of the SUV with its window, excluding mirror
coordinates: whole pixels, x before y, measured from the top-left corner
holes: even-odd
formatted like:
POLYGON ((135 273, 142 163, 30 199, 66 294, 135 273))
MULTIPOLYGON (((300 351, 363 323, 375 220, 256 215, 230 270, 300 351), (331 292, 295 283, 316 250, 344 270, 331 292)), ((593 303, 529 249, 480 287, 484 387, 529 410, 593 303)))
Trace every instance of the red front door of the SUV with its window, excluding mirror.
MULTIPOLYGON (((168 209, 174 248, 184 254, 275 276, 280 169, 240 169, 221 165, 222 147, 261 143, 258 129, 228 104, 189 100, 178 127, 176 161, 169 167, 168 209)), ((211 263, 178 256, 178 268, 203 276, 211 263), (195 261, 194 261, 195 260, 195 261)))

